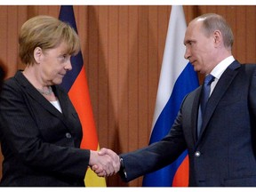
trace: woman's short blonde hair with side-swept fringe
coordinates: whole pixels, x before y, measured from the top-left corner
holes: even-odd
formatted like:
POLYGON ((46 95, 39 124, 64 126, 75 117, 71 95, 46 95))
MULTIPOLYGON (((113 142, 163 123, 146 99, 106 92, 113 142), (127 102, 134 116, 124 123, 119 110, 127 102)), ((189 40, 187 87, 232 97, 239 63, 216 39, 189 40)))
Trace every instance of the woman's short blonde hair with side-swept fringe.
POLYGON ((64 43, 67 54, 76 55, 80 51, 80 41, 76 31, 68 23, 51 16, 40 15, 27 20, 20 29, 20 60, 25 64, 35 63, 34 50, 43 51, 64 43))

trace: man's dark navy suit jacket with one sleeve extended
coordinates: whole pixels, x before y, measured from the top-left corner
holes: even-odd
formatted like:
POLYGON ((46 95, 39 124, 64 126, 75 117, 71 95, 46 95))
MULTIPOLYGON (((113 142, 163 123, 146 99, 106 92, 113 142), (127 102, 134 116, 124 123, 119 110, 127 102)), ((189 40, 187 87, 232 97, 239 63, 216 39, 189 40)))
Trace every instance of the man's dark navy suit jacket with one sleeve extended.
POLYGON ((127 173, 123 179, 133 180, 171 164, 188 148, 189 186, 256 186, 255 73, 255 65, 236 60, 229 65, 208 100, 198 140, 202 86, 189 93, 163 140, 121 155, 127 173))

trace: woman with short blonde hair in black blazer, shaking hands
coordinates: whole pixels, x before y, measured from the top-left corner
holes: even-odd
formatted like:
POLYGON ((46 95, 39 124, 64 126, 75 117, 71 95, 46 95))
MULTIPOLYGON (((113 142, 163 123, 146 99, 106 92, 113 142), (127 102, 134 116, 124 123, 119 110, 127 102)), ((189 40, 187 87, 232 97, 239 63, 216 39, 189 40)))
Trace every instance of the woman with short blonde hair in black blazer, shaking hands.
POLYGON ((37 16, 23 24, 19 44, 26 68, 4 83, 0 103, 1 185, 84 186, 88 166, 115 162, 79 148, 82 126, 58 85, 72 69, 79 38, 67 23, 37 16))

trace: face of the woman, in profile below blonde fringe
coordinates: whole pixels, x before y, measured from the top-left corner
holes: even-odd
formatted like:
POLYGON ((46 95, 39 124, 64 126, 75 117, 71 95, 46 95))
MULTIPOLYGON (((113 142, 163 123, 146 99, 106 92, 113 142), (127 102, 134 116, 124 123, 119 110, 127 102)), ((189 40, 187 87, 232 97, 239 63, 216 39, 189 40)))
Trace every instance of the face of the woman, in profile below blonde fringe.
MULTIPOLYGON (((39 48, 40 49, 40 48, 39 48)), ((72 69, 71 55, 66 52, 65 44, 41 52, 37 75, 44 84, 61 84, 68 70, 72 69)))

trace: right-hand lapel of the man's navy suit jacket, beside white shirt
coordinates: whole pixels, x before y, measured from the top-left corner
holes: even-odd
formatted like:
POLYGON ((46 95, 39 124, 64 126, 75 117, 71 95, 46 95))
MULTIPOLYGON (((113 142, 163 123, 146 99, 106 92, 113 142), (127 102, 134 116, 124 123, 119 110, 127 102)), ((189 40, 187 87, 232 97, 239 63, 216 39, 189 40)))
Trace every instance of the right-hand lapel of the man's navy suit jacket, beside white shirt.
POLYGON ((208 100, 205 114, 203 117, 203 124, 202 124, 202 134, 198 141, 202 138, 205 132, 205 128, 207 124, 209 123, 212 114, 217 107, 220 99, 224 95, 224 93, 227 91, 229 84, 232 83, 233 79, 235 78, 238 70, 236 68, 240 68, 241 64, 237 61, 234 61, 228 68, 224 71, 222 76, 220 76, 220 80, 218 84, 216 84, 216 87, 214 88, 211 97, 208 100))

